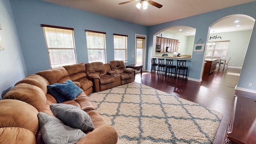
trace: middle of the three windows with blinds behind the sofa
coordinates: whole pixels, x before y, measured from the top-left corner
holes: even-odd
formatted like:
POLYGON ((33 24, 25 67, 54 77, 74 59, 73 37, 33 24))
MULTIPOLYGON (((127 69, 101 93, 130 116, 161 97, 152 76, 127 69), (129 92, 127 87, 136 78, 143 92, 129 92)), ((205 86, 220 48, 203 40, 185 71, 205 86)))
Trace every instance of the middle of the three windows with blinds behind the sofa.
POLYGON ((106 63, 106 33, 85 30, 89 62, 106 63))

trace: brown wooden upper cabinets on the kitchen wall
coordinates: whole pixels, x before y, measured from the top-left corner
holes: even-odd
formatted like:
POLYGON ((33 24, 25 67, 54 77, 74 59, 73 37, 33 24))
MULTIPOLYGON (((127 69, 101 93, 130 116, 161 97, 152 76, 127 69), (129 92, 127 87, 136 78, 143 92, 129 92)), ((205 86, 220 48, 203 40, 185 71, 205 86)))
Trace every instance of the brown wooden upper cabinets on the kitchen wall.
POLYGON ((156 37, 157 52, 177 52, 179 40, 156 37))

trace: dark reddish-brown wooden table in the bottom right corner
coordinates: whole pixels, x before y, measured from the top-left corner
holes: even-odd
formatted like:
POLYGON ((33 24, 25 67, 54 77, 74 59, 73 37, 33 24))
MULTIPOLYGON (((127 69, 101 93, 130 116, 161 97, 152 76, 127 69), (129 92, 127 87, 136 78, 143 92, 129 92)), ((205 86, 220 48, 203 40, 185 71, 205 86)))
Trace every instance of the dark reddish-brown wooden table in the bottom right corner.
POLYGON ((256 142, 255 99, 235 96, 225 144, 255 144, 256 142))

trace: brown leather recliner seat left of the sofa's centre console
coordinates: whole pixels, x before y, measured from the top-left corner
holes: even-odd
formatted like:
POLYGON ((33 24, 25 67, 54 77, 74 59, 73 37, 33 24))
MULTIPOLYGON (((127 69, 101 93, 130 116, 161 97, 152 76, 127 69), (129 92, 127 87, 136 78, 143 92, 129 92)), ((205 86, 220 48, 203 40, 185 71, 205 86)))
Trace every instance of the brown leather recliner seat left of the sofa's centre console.
POLYGON ((114 88, 114 76, 108 75, 102 62, 86 63, 86 74, 93 83, 94 92, 114 88))

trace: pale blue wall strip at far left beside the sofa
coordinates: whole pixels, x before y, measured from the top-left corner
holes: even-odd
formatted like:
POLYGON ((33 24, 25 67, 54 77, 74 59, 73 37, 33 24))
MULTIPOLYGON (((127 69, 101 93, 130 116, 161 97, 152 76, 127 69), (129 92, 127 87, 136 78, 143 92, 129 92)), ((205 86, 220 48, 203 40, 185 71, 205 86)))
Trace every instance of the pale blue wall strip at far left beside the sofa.
POLYGON ((10 0, 0 0, 0 36, 4 50, 0 50, 0 99, 6 90, 27 75, 10 0))

